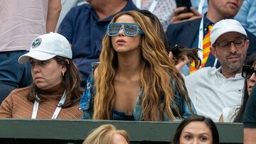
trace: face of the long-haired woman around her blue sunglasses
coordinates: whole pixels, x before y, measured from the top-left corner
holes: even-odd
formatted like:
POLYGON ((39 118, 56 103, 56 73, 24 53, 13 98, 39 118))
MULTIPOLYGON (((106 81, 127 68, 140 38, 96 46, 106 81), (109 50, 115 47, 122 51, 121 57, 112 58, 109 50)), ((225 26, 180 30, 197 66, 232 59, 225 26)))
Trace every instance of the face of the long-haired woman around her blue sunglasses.
MULTIPOLYGON (((134 18, 129 15, 122 15, 117 18, 115 23, 136 23, 134 18)), ((138 33, 136 36, 127 36, 124 33, 124 29, 121 29, 116 36, 112 36, 112 45, 117 53, 126 53, 139 50, 141 43, 141 35, 138 33)))

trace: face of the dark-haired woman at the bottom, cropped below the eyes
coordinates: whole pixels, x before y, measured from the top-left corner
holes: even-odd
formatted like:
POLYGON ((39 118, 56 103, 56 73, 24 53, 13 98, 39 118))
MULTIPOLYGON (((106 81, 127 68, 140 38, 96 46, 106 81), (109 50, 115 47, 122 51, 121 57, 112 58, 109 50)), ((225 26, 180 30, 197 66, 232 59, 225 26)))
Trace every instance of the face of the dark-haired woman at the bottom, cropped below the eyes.
POLYGON ((213 134, 206 123, 202 121, 193 121, 183 128, 179 141, 180 144, 212 144, 213 134))

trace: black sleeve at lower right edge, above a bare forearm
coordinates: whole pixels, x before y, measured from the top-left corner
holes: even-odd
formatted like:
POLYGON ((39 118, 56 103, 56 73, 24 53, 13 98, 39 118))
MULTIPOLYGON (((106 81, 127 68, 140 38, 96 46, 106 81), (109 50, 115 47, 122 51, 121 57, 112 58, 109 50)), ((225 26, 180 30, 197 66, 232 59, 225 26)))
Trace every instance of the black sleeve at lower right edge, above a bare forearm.
POLYGON ((243 125, 245 128, 256 128, 256 84, 245 107, 243 125))

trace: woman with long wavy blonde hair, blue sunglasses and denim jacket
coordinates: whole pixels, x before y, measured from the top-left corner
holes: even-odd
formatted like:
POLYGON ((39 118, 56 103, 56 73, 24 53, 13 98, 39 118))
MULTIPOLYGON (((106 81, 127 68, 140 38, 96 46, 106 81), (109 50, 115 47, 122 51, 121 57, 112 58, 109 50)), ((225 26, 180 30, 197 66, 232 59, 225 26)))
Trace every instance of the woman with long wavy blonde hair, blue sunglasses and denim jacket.
POLYGON ((142 13, 114 16, 80 101, 85 119, 174 121, 193 113, 183 77, 142 13))

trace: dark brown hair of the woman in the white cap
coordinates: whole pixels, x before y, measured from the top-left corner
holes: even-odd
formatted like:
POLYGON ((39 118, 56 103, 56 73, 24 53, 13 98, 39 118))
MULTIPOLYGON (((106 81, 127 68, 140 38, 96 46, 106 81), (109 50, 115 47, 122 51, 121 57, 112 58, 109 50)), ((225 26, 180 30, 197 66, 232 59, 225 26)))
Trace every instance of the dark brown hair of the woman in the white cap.
MULTIPOLYGON (((77 104, 82 95, 82 88, 80 87, 80 72, 74 62, 68 58, 55 56, 53 57, 60 65, 65 65, 67 70, 63 76, 63 87, 66 91, 66 100, 63 108, 68 108, 77 104)), ((27 96, 28 101, 45 101, 46 99, 41 96, 39 89, 34 82, 31 84, 31 92, 27 96), (36 95, 38 97, 36 97, 36 95)))

